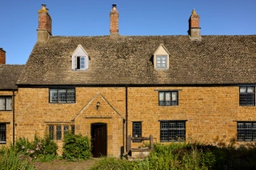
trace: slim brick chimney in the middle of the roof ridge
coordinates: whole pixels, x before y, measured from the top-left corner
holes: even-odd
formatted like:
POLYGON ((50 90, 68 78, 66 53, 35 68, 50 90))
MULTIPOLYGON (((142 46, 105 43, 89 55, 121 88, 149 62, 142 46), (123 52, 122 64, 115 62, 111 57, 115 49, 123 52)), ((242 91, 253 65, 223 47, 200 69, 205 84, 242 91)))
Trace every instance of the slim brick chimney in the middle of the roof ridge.
POLYGON ((110 11, 110 37, 115 38, 118 34, 118 10, 117 5, 112 5, 112 10, 110 11))

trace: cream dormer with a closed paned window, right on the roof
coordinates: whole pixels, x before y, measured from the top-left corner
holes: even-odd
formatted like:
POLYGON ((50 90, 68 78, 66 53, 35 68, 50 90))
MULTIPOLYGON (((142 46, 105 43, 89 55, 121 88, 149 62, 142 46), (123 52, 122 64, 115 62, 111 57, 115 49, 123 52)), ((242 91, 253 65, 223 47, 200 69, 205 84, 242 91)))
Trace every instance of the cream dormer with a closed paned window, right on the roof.
POLYGON ((154 69, 169 69, 170 53, 163 44, 154 52, 154 69))

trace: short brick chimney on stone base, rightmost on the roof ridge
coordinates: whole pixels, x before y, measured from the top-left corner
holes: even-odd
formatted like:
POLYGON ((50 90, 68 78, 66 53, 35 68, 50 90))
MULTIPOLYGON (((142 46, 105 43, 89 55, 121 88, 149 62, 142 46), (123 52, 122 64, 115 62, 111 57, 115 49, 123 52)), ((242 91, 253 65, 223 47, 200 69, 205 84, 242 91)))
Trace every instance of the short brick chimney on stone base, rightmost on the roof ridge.
POLYGON ((192 11, 189 19, 189 30, 188 33, 192 40, 201 40, 200 26, 199 26, 200 17, 195 10, 192 11))

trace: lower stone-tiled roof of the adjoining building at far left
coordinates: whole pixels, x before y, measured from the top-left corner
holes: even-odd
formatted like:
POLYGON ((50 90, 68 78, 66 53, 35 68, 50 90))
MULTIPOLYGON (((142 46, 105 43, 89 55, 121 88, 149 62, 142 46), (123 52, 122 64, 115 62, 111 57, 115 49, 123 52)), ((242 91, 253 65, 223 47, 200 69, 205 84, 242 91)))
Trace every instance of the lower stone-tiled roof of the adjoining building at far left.
POLYGON ((16 81, 24 65, 0 65, 0 90, 18 89, 16 81))

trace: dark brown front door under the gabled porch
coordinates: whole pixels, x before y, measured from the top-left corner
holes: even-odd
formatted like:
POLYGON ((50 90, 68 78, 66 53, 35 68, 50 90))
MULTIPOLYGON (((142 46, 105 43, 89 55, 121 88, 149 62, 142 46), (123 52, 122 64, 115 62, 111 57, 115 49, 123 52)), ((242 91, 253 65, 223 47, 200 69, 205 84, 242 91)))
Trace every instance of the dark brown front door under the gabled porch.
POLYGON ((106 124, 92 124, 90 129, 93 156, 106 156, 106 124))

